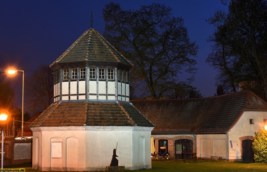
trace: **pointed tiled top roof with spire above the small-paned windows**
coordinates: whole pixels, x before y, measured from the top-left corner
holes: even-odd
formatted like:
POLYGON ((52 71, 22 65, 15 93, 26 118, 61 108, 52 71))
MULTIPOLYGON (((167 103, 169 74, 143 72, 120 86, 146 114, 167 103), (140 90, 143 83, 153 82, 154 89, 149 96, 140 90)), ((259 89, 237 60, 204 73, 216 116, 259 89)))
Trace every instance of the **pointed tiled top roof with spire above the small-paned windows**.
POLYGON ((132 67, 99 32, 95 29, 85 31, 56 61, 50 66, 70 64, 120 64, 132 67))

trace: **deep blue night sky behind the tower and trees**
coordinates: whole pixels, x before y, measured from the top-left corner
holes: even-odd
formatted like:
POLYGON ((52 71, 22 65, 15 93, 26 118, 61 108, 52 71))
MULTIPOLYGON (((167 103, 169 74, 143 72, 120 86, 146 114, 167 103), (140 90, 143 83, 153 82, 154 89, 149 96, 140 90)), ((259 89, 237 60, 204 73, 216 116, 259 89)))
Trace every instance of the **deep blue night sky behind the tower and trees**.
MULTIPOLYGON (((102 9, 110 1, 8 1, 0 0, 0 80, 8 80, 15 88, 16 104, 21 107, 22 73, 6 78, 5 70, 13 66, 25 71, 25 79, 32 75, 38 65, 51 64, 70 45, 90 28, 91 9, 93 9, 93 28, 104 31, 102 9), (17 82, 16 82, 17 81, 17 82)), ((140 5, 151 5, 158 0, 124 0, 121 9, 139 9, 140 5)), ((220 0, 173 0, 165 1, 173 9, 175 17, 184 19, 191 41, 199 45, 198 64, 193 86, 205 97, 216 92, 217 72, 205 63, 211 52, 206 39, 214 32, 214 27, 205 19, 216 9, 224 9, 220 0)), ((179 76, 185 80, 186 75, 179 76)))

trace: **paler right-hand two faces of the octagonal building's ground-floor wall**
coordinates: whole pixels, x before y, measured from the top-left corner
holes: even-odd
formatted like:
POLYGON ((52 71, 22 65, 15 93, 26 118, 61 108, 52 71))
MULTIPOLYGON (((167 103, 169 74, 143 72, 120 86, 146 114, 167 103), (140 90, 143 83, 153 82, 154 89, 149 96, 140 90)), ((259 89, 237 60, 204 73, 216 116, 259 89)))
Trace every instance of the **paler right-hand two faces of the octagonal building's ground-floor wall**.
POLYGON ((140 169, 143 164, 139 163, 139 138, 143 136, 146 140, 145 167, 151 168, 151 130, 152 127, 91 127, 86 126, 86 162, 85 170, 105 170, 112 159, 113 149, 116 148, 116 155, 119 166, 125 169, 140 169), (147 128, 141 131, 142 128, 147 128), (140 130, 140 131, 139 131, 140 130), (93 150, 93 151, 92 151, 93 150), (136 152, 137 151, 137 152, 136 152), (97 154, 95 154, 97 152, 97 154))

